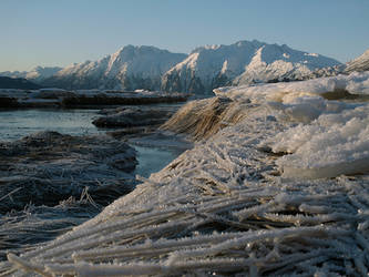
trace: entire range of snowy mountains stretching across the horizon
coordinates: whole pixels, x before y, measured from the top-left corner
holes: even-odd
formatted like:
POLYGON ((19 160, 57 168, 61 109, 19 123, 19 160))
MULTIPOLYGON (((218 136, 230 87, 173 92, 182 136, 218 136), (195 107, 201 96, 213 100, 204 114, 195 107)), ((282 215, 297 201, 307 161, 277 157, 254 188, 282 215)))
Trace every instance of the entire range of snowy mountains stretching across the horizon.
POLYGON ((38 66, 30 72, 0 72, 27 78, 42 86, 69 90, 163 90, 207 94, 224 85, 306 80, 369 69, 369 50, 348 63, 286 44, 239 41, 206 45, 188 55, 154 47, 126 45, 98 61, 61 68, 38 66))

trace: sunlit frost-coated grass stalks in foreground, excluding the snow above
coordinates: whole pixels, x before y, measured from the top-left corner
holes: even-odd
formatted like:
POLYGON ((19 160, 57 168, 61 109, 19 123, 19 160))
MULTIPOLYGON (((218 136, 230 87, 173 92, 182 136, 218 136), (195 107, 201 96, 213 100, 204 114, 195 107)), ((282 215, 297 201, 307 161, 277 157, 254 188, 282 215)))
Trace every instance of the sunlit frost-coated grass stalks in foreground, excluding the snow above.
POLYGON ((249 106, 93 219, 8 255, 3 276, 367 275, 368 175, 285 181, 259 142, 290 123, 249 106))

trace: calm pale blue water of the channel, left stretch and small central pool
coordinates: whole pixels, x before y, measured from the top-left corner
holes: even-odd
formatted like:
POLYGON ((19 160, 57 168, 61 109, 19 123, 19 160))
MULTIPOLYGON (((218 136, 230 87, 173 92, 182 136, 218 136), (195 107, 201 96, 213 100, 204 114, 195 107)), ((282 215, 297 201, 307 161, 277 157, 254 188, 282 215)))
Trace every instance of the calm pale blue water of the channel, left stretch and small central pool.
MULTIPOLYGON (((40 132, 57 131, 62 134, 85 135, 104 133, 92 124, 99 110, 16 110, 0 111, 0 141, 13 141, 40 132)), ((133 145, 134 146, 134 145, 133 145)), ((134 146, 139 165, 135 174, 148 177, 162 170, 181 151, 153 146, 134 146)))

